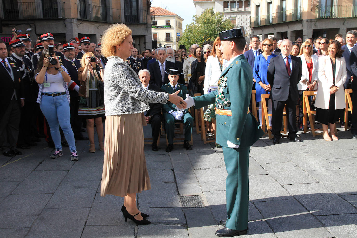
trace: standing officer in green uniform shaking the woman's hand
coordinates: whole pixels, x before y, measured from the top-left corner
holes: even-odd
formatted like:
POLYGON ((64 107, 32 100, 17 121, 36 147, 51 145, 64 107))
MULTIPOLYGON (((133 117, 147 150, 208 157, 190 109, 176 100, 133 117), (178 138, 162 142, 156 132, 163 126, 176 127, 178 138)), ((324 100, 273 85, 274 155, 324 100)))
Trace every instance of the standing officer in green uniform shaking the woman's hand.
POLYGON ((217 138, 223 147, 226 178, 226 226, 216 231, 219 237, 240 236, 248 229, 248 161, 250 146, 264 133, 249 111, 252 93, 252 68, 243 55, 244 27, 222 31, 220 49, 228 61, 218 81, 218 90, 197 97, 187 97, 187 107, 200 108, 216 103, 217 138))

